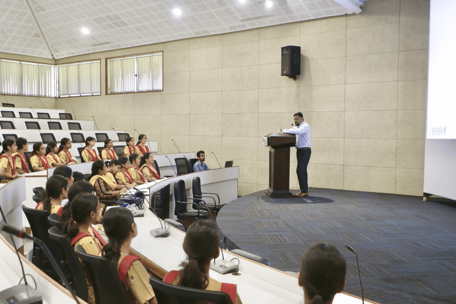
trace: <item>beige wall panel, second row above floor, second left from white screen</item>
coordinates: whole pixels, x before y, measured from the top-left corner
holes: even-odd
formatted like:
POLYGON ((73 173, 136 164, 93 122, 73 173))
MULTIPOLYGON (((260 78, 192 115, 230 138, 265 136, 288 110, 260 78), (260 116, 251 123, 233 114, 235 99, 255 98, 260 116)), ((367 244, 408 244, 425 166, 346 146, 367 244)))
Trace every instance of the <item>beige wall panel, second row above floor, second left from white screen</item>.
POLYGON ((346 138, 344 165, 395 167, 396 139, 346 138))

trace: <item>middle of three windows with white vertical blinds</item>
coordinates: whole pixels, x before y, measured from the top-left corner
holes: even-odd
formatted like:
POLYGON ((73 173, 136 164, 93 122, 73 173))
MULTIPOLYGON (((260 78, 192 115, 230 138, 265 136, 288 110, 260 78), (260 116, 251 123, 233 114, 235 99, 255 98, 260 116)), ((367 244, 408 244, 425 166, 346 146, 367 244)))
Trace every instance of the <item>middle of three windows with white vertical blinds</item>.
POLYGON ((99 95, 100 61, 57 66, 58 97, 99 95))

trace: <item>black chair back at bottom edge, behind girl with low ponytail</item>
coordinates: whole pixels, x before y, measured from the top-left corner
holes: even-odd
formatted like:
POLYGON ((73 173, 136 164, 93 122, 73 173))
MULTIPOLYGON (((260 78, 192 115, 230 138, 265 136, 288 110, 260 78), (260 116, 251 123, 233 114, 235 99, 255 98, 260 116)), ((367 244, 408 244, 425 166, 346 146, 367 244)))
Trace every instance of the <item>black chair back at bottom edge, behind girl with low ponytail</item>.
POLYGON ((202 303, 233 304, 229 295, 221 291, 172 285, 153 277, 150 277, 149 281, 154 289, 158 304, 200 303, 200 301, 202 303))

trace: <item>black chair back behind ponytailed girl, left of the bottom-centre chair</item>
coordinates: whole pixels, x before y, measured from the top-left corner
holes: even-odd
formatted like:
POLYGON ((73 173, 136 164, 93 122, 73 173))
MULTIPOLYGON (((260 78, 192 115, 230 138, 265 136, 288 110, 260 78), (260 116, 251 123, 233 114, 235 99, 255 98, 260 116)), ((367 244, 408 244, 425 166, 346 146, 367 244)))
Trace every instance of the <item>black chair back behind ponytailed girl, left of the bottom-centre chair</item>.
POLYGON ((91 278, 96 303, 130 304, 119 273, 107 258, 88 254, 81 245, 76 246, 76 255, 83 260, 91 278))

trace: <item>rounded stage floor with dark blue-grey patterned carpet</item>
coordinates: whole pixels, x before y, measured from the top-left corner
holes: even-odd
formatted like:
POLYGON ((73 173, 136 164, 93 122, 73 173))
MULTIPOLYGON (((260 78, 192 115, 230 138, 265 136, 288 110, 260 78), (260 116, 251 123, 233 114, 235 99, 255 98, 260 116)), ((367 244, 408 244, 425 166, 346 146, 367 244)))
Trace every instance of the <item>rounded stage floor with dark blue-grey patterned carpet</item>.
MULTIPOLYGON (((310 188, 306 198, 269 199, 264 191, 223 206, 217 222, 227 249, 262 256, 272 267, 299 270, 319 243, 347 260, 349 294, 382 304, 455 303, 456 205, 422 197, 310 188)), ((291 190, 299 192, 297 190, 291 190)))

